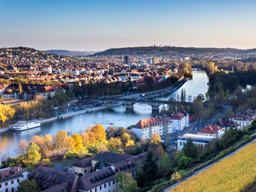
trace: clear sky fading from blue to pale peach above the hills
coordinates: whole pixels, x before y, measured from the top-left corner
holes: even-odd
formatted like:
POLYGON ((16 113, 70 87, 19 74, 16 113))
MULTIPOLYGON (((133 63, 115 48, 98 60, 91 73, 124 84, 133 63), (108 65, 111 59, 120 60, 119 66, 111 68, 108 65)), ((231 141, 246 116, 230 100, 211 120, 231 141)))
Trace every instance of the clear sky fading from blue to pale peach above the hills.
POLYGON ((255 0, 0 0, 0 48, 256 48, 255 0))

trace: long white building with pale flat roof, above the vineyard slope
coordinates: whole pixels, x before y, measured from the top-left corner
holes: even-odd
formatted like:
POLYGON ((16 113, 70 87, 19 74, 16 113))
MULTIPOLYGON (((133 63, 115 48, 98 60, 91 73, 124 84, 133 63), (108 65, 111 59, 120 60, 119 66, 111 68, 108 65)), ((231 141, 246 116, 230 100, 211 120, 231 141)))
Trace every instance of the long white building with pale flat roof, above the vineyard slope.
POLYGON ((193 144, 196 144, 202 147, 205 147, 205 145, 208 144, 209 141, 214 141, 216 139, 216 137, 186 133, 185 135, 178 137, 178 140, 177 140, 178 150, 182 150, 184 145, 187 143, 188 139, 190 138, 193 141, 193 144))

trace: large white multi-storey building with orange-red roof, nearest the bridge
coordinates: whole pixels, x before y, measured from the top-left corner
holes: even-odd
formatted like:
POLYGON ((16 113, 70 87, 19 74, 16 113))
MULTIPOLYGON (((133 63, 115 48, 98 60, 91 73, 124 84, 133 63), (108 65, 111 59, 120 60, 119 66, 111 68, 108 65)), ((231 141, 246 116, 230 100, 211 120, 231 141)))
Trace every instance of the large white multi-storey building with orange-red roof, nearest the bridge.
POLYGON ((173 132, 172 121, 163 116, 141 119, 132 127, 132 132, 141 139, 149 139, 154 133, 164 135, 173 132))

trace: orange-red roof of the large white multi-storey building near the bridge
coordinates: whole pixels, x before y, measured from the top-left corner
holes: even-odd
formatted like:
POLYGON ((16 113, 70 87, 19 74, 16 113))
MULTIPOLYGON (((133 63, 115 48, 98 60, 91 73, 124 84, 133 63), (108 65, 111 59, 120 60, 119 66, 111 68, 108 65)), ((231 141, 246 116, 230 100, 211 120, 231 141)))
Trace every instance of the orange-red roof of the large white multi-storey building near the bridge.
POLYGON ((167 123, 171 123, 169 118, 164 118, 163 116, 159 116, 154 118, 141 119, 140 121, 138 121, 137 124, 135 124, 134 127, 139 129, 144 129, 147 127, 156 126, 157 124, 167 124, 167 123))

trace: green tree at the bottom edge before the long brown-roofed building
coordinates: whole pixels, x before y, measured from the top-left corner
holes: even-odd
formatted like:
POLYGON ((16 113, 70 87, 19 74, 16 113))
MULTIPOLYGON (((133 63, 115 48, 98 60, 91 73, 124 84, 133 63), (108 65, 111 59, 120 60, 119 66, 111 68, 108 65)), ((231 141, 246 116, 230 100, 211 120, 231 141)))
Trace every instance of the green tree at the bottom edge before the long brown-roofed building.
POLYGON ((115 177, 116 183, 118 183, 118 188, 124 192, 138 191, 137 182, 132 179, 130 173, 124 171, 118 171, 115 177))

